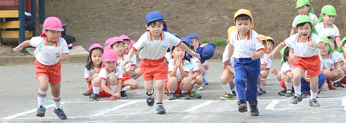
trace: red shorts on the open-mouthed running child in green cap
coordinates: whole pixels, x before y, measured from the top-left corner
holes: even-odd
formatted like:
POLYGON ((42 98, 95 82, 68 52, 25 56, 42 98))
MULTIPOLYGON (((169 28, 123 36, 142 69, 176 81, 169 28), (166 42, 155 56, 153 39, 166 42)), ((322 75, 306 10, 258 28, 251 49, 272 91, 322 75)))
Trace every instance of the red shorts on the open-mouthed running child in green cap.
POLYGON ((318 76, 321 74, 321 61, 318 56, 294 56, 293 67, 308 71, 308 76, 318 76))

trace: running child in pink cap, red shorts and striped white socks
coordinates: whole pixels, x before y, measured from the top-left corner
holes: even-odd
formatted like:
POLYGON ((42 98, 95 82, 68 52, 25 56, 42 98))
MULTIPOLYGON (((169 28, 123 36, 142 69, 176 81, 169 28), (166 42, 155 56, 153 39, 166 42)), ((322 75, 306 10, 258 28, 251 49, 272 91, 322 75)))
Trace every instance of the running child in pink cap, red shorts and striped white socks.
POLYGON ((54 16, 48 17, 43 23, 40 36, 22 42, 13 48, 13 51, 20 51, 26 46, 36 47, 35 74, 39 84, 36 116, 45 116, 45 102, 49 85, 55 105, 53 113, 58 119, 65 120, 67 117, 61 108, 61 63, 59 60, 67 61, 70 56, 69 48, 62 38, 61 31, 64 31, 61 21, 54 16))

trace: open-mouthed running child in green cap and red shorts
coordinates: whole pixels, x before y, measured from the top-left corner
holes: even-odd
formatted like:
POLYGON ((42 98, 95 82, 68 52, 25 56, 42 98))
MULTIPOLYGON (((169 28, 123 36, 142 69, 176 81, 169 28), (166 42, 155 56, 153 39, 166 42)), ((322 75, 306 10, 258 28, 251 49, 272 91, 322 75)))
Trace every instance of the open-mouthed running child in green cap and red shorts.
POLYGON ((319 103, 316 100, 318 92, 318 75, 320 75, 321 61, 318 57, 319 50, 326 48, 324 42, 317 36, 315 26, 312 25, 312 20, 307 15, 301 15, 295 21, 295 29, 298 33, 286 38, 273 50, 268 58, 272 58, 277 51, 284 46, 294 49, 293 60, 293 88, 294 96, 290 103, 297 104, 302 101, 300 88, 300 79, 307 70, 307 75, 310 78, 311 97, 309 101, 310 106, 317 106, 319 103))

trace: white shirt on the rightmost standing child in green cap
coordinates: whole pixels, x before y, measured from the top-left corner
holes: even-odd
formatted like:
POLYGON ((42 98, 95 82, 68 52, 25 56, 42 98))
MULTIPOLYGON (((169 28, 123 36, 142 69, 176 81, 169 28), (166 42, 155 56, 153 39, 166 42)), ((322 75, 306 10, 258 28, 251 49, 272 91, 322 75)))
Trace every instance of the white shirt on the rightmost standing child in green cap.
POLYGON ((333 35, 334 37, 340 37, 339 29, 334 24, 330 24, 330 28, 327 28, 323 21, 318 23, 315 28, 318 36, 333 35))

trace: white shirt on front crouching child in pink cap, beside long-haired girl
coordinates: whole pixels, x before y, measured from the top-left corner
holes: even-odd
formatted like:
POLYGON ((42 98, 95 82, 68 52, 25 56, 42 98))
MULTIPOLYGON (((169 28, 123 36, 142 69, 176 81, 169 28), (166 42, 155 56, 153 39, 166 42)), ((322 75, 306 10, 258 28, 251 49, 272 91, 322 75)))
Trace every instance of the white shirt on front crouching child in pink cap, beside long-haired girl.
POLYGON ((122 71, 119 66, 116 66, 113 71, 109 71, 106 67, 103 67, 99 72, 99 77, 103 80, 106 80, 106 83, 108 82, 108 77, 110 75, 114 75, 117 77, 118 80, 122 79, 122 71))

